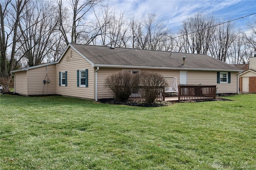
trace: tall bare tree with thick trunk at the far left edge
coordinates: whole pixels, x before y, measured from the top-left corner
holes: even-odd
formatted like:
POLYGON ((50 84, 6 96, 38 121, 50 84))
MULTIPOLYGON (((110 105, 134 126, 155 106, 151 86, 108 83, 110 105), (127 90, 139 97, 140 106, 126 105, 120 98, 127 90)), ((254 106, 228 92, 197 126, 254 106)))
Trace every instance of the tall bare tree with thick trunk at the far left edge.
POLYGON ((3 69, 1 69, 1 77, 6 79, 5 81, 2 81, 4 91, 9 91, 9 83, 11 79, 10 71, 13 70, 16 43, 18 42, 18 23, 20 21, 20 15, 22 14, 27 2, 27 0, 6 0, 4 3, 0 3, 0 59, 1 67, 3 67, 3 69), (2 6, 2 4, 4 6, 2 6), (9 47, 11 47, 11 55, 9 68, 7 68, 6 51, 9 47))

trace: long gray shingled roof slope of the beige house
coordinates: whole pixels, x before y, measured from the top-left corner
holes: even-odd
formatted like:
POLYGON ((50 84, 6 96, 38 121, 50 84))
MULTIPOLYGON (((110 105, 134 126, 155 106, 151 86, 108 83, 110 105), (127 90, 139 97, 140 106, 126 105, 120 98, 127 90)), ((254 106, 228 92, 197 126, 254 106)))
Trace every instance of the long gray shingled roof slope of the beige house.
POLYGON ((70 44, 95 67, 164 67, 169 69, 205 69, 240 71, 234 65, 205 54, 177 53, 106 46, 70 44), (182 57, 186 65, 182 65, 182 57))

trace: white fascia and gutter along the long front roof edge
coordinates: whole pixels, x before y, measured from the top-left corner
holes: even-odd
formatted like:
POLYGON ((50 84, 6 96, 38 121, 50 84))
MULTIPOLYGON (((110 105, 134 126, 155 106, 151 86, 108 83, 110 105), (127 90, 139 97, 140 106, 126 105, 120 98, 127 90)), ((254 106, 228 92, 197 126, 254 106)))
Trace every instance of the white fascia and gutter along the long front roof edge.
POLYGON ((148 67, 148 66, 100 65, 100 64, 92 65, 92 67, 137 68, 137 69, 168 69, 168 70, 194 70, 194 71, 235 71, 235 72, 242 71, 242 70, 232 70, 232 69, 200 69, 200 68, 148 67))

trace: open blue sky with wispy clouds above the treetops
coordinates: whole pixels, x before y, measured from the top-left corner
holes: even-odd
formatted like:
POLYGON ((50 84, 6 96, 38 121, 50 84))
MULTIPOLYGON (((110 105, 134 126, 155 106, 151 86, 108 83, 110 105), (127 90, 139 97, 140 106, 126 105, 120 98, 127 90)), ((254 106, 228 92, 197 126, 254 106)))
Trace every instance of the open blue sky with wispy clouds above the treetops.
MULTIPOLYGON (((172 32, 177 32, 182 21, 197 12, 213 15, 223 22, 256 13, 256 0, 108 0, 108 4, 127 17, 156 14, 157 19, 164 21, 172 32)), ((232 23, 245 31, 246 23, 252 20, 256 20, 256 14, 232 23)))

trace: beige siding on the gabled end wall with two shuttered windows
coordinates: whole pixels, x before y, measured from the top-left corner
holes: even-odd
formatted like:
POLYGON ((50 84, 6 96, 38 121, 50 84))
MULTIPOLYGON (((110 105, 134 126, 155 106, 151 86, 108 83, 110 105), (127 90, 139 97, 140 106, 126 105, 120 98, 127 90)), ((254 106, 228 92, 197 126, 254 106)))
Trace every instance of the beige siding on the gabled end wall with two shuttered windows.
POLYGON ((94 67, 71 47, 56 64, 56 94, 94 99, 94 67), (82 69, 88 69, 88 87, 77 87, 77 70, 82 69), (67 71, 67 86, 59 86, 59 72, 62 71, 67 71))

